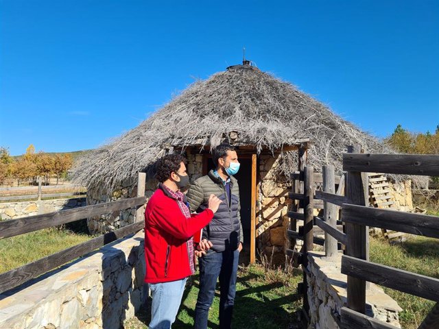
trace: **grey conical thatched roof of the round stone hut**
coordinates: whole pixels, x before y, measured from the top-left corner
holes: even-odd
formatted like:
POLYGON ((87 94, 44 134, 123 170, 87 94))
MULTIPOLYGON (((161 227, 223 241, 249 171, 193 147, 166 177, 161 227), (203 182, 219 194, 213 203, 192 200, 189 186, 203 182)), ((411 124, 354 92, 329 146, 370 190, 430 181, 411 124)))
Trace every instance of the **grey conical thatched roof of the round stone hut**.
MULTIPOLYGON (((165 153, 163 145, 187 147, 202 141, 215 147, 228 132, 238 132, 239 141, 258 152, 310 138, 309 163, 317 170, 330 163, 341 171, 347 145, 394 153, 292 84, 239 65, 194 82, 138 127, 95 149, 75 167, 74 179, 88 188, 112 188, 136 178, 165 153)), ((285 172, 296 170, 294 156, 285 157, 285 172)))

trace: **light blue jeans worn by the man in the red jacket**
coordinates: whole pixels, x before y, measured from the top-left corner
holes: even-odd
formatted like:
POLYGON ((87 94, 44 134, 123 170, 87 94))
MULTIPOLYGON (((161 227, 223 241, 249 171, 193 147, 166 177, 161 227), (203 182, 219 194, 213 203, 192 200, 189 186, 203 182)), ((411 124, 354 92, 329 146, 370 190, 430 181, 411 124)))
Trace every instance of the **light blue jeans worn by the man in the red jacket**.
POLYGON ((152 306, 150 329, 169 329, 176 321, 187 278, 150 284, 152 306))

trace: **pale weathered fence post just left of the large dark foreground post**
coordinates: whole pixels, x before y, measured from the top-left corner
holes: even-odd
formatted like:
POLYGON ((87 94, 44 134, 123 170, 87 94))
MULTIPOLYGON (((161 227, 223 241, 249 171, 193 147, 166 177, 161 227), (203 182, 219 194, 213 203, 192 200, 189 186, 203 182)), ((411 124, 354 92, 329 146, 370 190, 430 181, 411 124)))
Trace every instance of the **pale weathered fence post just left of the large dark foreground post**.
MULTIPOLYGON (((323 191, 335 194, 335 169, 333 165, 323 166, 323 191)), ((324 221, 337 229, 337 206, 324 202, 324 221)), ((324 254, 333 257, 337 254, 337 240, 324 232, 324 254)))

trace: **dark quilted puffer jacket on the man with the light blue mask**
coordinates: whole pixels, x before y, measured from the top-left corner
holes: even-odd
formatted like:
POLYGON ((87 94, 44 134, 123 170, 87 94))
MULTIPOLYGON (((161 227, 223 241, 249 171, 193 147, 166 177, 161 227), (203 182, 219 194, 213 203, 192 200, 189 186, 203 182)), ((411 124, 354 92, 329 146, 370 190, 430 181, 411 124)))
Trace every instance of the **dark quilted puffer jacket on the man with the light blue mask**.
POLYGON ((203 239, 208 239, 213 244, 215 252, 223 252, 226 249, 237 249, 239 242, 244 242, 241 215, 239 210, 239 186, 237 180, 230 176, 230 195, 229 202, 226 188, 221 180, 209 171, 209 174, 195 180, 189 191, 187 191, 187 201, 191 212, 201 212, 207 208, 209 195, 214 194, 222 200, 217 212, 203 230, 203 239))

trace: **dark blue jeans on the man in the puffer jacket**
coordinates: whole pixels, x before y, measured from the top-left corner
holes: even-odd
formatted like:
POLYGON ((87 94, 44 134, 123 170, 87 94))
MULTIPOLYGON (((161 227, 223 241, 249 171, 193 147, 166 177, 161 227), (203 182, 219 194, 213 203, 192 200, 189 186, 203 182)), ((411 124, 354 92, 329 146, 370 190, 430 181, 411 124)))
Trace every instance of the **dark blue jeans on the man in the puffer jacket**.
POLYGON ((195 306, 195 329, 206 329, 209 308, 215 296, 219 277, 219 328, 230 329, 235 304, 238 250, 214 252, 198 258, 200 264, 200 292, 195 306))

